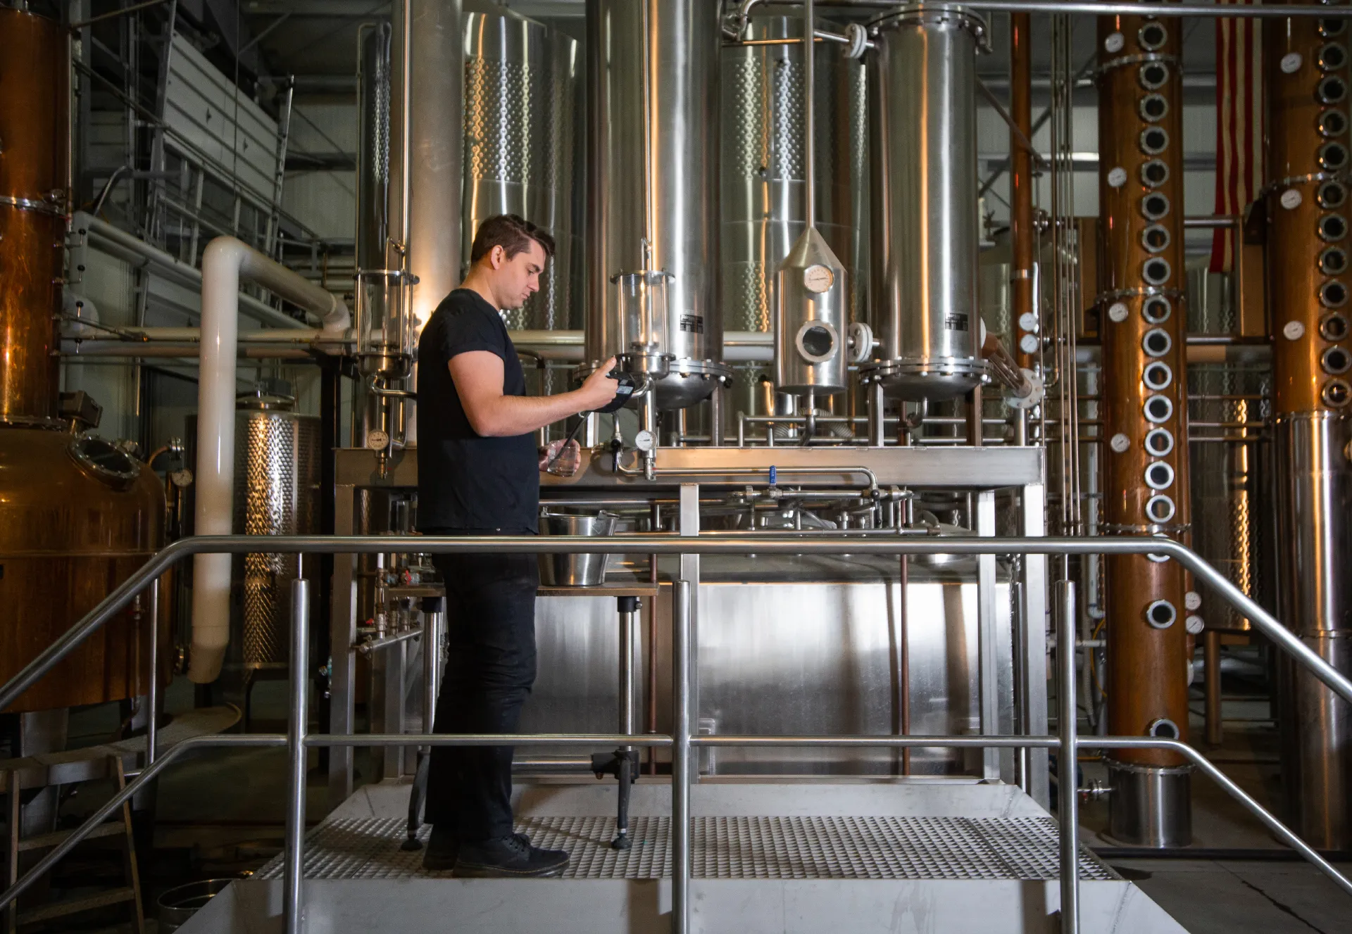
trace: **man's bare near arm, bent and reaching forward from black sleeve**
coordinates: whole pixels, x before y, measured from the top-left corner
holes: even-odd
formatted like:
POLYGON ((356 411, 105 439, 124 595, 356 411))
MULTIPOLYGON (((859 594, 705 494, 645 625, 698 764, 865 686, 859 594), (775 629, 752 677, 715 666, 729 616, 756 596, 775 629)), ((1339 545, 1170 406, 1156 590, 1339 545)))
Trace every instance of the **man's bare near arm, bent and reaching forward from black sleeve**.
POLYGON ((615 397, 619 387, 610 378, 614 357, 588 376, 580 389, 554 396, 504 396, 502 357, 488 350, 456 354, 448 366, 470 427, 485 438, 529 434, 569 415, 600 408, 615 397))

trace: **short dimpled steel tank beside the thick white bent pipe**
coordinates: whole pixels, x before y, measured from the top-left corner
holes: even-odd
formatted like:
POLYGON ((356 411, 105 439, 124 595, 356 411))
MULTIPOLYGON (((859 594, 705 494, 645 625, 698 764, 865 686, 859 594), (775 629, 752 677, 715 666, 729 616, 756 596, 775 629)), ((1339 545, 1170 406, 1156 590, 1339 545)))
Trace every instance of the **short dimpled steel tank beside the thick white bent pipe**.
MULTIPOLYGON (((291 411, 284 396, 246 396, 235 411, 237 535, 308 535, 319 531, 319 418, 291 411)), ((230 643, 246 668, 291 656, 291 581, 300 556, 235 558, 239 589, 230 643)))

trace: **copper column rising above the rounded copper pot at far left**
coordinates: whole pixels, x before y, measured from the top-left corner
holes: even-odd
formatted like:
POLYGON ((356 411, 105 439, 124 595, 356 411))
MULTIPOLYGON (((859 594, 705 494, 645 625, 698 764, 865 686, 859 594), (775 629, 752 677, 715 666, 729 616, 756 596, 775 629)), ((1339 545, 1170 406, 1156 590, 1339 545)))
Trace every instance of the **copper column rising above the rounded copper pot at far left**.
POLYGON ((0 422, 57 414, 68 47, 55 20, 0 8, 0 422))

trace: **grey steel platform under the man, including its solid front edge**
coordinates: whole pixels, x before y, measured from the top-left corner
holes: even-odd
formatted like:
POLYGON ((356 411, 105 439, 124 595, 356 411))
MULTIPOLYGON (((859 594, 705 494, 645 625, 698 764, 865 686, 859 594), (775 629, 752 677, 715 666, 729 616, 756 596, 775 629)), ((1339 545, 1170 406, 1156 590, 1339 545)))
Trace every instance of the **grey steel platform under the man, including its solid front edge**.
MULTIPOLYGON (((634 787, 633 849, 611 850, 615 784, 537 780, 514 795, 562 879, 452 879, 404 852, 407 785, 368 785, 307 835, 306 934, 596 934, 671 927, 671 788, 634 787)), ((1046 934, 1059 927, 1055 820, 972 780, 714 780, 691 788, 691 929, 700 934, 1046 934)), ((426 839, 426 829, 419 834, 426 839)), ((1083 934, 1183 929, 1088 850, 1083 934)), ((181 934, 281 931, 281 865, 231 884, 181 934)))

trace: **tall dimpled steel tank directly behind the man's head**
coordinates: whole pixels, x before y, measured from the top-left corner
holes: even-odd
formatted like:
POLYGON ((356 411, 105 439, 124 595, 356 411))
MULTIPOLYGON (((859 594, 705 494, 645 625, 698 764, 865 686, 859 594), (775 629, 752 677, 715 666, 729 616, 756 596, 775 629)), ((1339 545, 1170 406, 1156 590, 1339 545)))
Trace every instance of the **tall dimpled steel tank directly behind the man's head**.
POLYGON ((557 250, 539 292, 504 311, 507 327, 581 327, 581 282, 572 277, 577 42, 506 7, 465 5, 464 266, 485 218, 539 224, 557 250))

